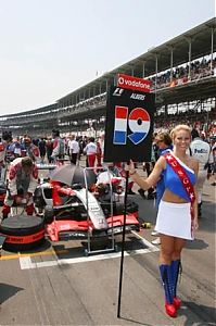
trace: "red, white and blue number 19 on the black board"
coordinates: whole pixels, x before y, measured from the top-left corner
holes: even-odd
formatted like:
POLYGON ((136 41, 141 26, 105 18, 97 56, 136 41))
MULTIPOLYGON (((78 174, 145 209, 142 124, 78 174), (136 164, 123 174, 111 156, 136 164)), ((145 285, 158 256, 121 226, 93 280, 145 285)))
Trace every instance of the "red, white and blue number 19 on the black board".
POLYGON ((114 145, 126 145, 127 137, 135 145, 140 143, 148 136, 151 120, 147 110, 135 108, 128 116, 128 106, 115 106, 114 145), (132 134, 127 135, 127 125, 132 134))

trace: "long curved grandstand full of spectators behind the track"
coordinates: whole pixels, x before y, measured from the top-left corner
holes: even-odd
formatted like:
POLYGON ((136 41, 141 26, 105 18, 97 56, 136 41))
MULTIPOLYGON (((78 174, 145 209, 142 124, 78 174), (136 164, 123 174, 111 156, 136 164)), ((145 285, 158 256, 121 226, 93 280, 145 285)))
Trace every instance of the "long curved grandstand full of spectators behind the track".
POLYGON ((53 127, 62 133, 81 133, 89 126, 102 130, 106 92, 118 73, 152 80, 156 127, 167 120, 175 123, 174 115, 180 117, 182 112, 188 112, 188 118, 194 115, 194 122, 200 115, 203 124, 208 124, 216 118, 216 18, 152 48, 53 104, 0 116, 0 128, 14 136, 46 136, 53 127))

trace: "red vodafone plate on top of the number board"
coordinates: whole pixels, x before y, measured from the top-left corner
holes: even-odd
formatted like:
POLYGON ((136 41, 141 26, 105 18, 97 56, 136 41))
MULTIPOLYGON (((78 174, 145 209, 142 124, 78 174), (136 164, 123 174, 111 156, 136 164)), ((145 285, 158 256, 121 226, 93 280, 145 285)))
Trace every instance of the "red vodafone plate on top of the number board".
POLYGON ((118 74, 117 87, 150 92, 150 86, 149 80, 118 74))

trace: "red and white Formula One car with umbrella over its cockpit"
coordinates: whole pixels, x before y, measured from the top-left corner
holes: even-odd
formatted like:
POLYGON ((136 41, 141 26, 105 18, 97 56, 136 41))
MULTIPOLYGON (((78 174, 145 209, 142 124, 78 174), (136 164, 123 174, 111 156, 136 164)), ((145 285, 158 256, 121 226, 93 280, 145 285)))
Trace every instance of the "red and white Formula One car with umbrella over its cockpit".
MULTIPOLYGON (((52 241, 104 237, 123 231, 124 183, 113 175, 97 178, 92 170, 56 167, 48 183, 36 188, 35 206, 43 214, 52 241), (97 180, 98 179, 98 180, 97 180)), ((138 205, 127 201, 125 230, 139 230, 138 205)))

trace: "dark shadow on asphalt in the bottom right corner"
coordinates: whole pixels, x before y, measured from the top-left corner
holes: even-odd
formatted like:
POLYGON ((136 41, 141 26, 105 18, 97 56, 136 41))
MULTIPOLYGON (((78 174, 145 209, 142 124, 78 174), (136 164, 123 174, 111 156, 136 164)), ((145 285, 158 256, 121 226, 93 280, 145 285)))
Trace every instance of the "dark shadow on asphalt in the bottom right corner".
POLYGON ((191 301, 183 301, 182 304, 188 308, 188 309, 180 309, 178 311, 179 316, 183 315, 187 318, 183 326, 191 326, 191 325, 195 325, 195 326, 214 325, 215 326, 216 325, 216 323, 215 323, 216 310, 214 306, 198 304, 198 303, 191 302, 191 301), (199 317, 202 322, 193 321, 191 312, 193 314, 195 314, 196 317, 199 317))

